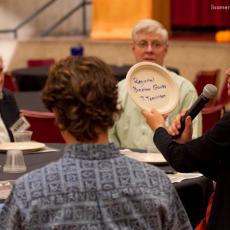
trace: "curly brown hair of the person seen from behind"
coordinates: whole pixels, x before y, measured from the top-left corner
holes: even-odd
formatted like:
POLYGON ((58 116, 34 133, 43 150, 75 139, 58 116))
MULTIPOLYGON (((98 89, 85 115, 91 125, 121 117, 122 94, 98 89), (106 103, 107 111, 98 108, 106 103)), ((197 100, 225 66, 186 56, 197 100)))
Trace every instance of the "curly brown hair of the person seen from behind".
POLYGON ((57 112, 59 128, 81 142, 96 141, 121 112, 117 81, 97 57, 68 57, 53 65, 42 99, 57 112))

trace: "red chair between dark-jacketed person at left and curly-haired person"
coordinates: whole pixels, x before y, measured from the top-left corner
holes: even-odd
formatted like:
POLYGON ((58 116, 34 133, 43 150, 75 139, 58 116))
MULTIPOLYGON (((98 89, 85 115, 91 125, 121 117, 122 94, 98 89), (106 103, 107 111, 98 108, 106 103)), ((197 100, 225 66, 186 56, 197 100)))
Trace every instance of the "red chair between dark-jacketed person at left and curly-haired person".
POLYGON ((64 143, 55 125, 53 113, 32 110, 21 110, 20 112, 30 123, 30 130, 33 131, 32 140, 44 143, 64 143))

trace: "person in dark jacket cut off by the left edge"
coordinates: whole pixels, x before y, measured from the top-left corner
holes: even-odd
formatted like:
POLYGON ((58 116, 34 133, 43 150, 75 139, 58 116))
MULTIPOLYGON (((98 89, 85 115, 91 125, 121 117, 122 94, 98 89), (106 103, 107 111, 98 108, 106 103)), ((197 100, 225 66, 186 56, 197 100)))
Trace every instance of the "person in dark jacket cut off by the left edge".
POLYGON ((3 60, 0 57, 0 143, 13 141, 10 127, 19 119, 20 112, 14 94, 4 86, 3 60))

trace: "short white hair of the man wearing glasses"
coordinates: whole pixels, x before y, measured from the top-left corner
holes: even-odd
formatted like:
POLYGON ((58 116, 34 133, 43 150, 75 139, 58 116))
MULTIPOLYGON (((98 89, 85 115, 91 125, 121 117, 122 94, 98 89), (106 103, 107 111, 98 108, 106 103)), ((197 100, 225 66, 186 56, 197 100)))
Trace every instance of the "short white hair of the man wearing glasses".
POLYGON ((138 21, 132 30, 132 40, 136 41, 139 33, 160 34, 164 42, 168 42, 168 31, 164 26, 153 19, 142 19, 138 21))

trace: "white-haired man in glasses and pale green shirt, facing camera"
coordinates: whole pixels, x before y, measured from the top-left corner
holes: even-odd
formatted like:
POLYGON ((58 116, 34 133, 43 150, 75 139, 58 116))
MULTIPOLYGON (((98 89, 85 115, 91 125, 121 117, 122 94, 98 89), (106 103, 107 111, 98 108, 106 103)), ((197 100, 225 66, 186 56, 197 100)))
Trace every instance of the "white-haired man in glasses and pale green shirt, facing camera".
MULTIPOLYGON (((144 19, 139 21, 132 31, 132 51, 136 62, 149 61, 164 67, 164 58, 168 51, 168 32, 157 21, 144 19)), ((193 84, 169 71, 179 90, 179 102, 168 114, 166 124, 170 125, 182 108, 190 108, 197 99, 193 84)), ((152 145, 152 130, 145 123, 138 106, 132 101, 126 89, 126 80, 118 83, 119 101, 124 110, 120 119, 109 131, 110 141, 118 147, 146 149, 152 145)), ((202 133, 201 115, 193 121, 194 137, 202 133)))

